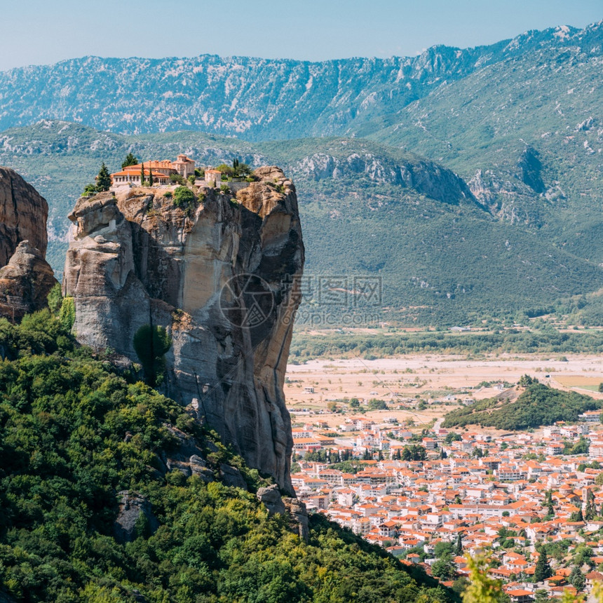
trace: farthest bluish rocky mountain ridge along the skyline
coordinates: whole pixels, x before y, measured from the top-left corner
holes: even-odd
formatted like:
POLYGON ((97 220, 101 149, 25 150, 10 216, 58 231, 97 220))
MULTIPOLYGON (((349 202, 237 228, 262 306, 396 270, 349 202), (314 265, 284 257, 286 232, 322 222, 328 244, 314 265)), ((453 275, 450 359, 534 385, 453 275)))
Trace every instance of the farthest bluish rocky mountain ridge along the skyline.
POLYGON ((203 130, 248 140, 367 135, 442 83, 539 48, 603 53, 603 25, 526 32, 416 57, 326 62, 83 57, 0 73, 0 130, 41 118, 116 133, 203 130))

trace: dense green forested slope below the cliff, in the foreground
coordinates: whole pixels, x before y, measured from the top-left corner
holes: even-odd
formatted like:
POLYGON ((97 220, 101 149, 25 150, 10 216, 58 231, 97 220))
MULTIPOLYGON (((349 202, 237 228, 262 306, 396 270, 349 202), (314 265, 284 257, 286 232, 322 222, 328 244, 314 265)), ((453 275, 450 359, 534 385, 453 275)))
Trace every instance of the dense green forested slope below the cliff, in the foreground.
MULTIPOLYGON (((55 303, 55 306, 58 304, 55 303)), ((161 457, 195 438, 208 467, 257 471, 175 402, 77 346, 50 310, 0 320, 0 598, 18 602, 446 602, 420 569, 311 517, 308 543, 255 494, 206 484, 161 457), (114 538, 117 493, 159 527, 114 538)), ((165 458, 165 457, 164 457, 165 458)))

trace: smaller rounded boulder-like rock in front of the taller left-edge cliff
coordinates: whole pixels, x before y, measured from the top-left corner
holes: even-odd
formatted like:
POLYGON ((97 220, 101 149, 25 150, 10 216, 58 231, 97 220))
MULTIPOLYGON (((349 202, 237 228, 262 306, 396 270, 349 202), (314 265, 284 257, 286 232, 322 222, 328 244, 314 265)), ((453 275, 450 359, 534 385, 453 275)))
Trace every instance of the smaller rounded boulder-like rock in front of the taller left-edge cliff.
POLYGON ((0 316, 14 322, 43 308, 56 282, 40 251, 22 240, 8 264, 0 268, 0 316))

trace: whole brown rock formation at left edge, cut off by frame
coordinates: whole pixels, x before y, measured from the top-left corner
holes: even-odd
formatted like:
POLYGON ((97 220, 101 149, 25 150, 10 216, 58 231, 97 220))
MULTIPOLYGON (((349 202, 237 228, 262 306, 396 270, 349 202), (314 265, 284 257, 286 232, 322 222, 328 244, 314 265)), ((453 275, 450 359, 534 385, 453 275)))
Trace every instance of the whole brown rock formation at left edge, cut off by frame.
POLYGON ((0 316, 20 320, 46 306, 55 285, 46 255, 46 200, 20 175, 0 168, 0 316))

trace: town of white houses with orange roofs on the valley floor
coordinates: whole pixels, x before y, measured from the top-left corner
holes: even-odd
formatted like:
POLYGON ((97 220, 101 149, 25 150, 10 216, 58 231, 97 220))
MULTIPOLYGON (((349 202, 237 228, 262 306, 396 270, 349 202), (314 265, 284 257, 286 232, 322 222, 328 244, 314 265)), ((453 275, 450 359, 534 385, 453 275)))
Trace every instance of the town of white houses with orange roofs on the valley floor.
POLYGON ((490 571, 513 602, 534 600, 538 589, 562 596, 576 592, 570 562, 551 560, 553 575, 534 583, 542 543, 569 541, 568 559, 585 544, 592 550, 580 568, 586 590, 603 580, 597 571, 599 564, 603 569, 599 415, 586 412, 576 425, 496 438, 480 431, 452 438, 444 429, 418 438, 391 421, 376 424, 363 416, 348 419, 337 433, 309 424, 293 430, 292 482, 307 508, 388 548, 403 563, 421 562, 430 572, 435 546, 458 542, 462 554, 452 560, 457 578, 468 573, 464 555, 489 550, 499 564, 490 571), (564 454, 567 443, 580 438, 590 443, 588 454, 564 454), (401 460, 400 450, 411 445, 424 448, 426 460, 401 460), (320 451, 332 463, 307 460, 320 451), (355 473, 333 467, 336 459, 358 459, 355 473), (512 541, 501 537, 508 531, 512 541))

